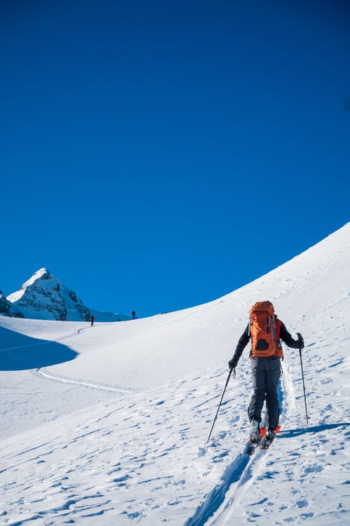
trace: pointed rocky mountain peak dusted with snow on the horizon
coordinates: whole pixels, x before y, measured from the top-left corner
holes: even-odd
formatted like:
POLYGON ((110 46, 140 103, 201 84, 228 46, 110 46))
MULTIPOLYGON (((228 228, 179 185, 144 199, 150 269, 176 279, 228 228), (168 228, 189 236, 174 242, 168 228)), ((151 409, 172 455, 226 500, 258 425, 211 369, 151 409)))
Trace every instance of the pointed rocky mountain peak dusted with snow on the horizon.
POLYGON ((130 319, 127 316, 100 312, 85 306, 76 292, 42 268, 23 283, 20 290, 8 295, 3 313, 8 316, 56 321, 88 321, 93 314, 99 321, 130 319), (10 308, 8 309, 8 302, 10 308), (7 311, 6 311, 7 309, 7 311))

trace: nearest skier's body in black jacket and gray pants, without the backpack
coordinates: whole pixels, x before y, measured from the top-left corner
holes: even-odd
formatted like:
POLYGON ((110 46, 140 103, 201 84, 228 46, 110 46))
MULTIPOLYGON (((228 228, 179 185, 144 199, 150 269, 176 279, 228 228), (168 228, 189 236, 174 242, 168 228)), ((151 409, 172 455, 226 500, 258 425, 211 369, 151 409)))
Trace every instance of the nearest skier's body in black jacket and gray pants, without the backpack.
MULTIPOLYGON (((252 356, 251 353, 251 376, 253 380, 253 396, 248 406, 248 418, 251 422, 251 437, 252 440, 260 439, 260 422, 262 406, 266 400, 266 419, 265 427, 267 429, 267 436, 274 436, 275 429, 279 424, 279 398, 277 389, 279 385, 279 377, 281 375, 281 343, 285 342, 288 347, 292 349, 303 349, 304 341, 302 335, 297 333, 298 339, 295 340, 286 329, 286 325, 275 316, 276 329, 276 349, 280 352, 272 356, 258 358, 252 356)), ((246 326, 244 333, 239 338, 233 358, 229 361, 230 369, 236 368, 241 354, 251 339, 250 324, 246 326)))

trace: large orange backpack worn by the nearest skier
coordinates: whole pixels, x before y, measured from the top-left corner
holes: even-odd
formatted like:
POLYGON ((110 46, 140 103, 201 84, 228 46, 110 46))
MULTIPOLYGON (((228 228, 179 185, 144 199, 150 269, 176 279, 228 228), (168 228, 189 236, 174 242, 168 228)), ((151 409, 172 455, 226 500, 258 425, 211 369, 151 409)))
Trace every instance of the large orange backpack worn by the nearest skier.
POLYGON ((271 302, 258 302, 249 311, 251 333, 251 358, 283 356, 279 335, 276 335, 274 306, 271 302))

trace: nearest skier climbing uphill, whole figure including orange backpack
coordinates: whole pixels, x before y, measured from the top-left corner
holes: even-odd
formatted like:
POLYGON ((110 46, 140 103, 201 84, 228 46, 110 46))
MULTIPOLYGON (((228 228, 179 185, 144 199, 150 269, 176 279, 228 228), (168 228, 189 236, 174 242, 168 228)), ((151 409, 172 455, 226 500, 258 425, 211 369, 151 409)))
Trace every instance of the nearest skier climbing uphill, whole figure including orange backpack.
POLYGON ((248 418, 251 422, 251 443, 260 441, 260 422, 262 406, 266 400, 266 440, 271 443, 276 435, 279 423, 279 398, 277 388, 281 375, 281 358, 283 351, 280 340, 288 347, 303 349, 304 340, 297 333, 295 340, 286 329, 286 325, 277 318, 271 302, 258 302, 251 308, 250 321, 239 338, 233 358, 228 365, 237 367, 239 358, 249 339, 251 339, 251 376, 253 396, 248 406, 248 418))

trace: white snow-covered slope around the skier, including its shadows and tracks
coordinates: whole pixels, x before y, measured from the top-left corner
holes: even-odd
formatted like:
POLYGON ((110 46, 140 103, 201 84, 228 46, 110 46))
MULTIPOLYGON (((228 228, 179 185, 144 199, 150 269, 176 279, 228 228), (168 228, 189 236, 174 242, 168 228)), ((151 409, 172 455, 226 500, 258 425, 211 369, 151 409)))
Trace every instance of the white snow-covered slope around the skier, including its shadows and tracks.
POLYGON ((350 224, 231 294, 124 323, 0 317, 0 524, 350 524, 350 224), (285 347, 281 431, 245 454, 256 301, 285 347))

